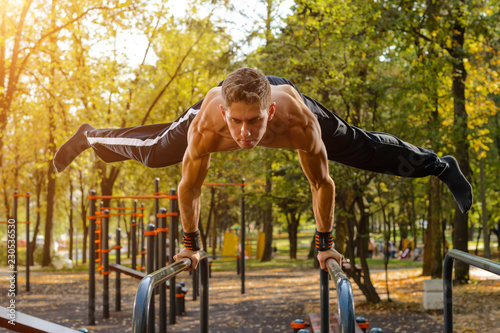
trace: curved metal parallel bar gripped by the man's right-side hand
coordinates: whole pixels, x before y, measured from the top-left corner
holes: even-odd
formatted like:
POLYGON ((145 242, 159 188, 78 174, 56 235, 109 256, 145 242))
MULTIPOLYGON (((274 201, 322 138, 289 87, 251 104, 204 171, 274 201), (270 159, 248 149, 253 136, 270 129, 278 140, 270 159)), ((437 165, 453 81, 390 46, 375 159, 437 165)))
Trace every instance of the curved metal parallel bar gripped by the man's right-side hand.
POLYGON ((321 333, 330 332, 330 297, 328 293, 328 273, 335 282, 337 290, 337 302, 339 313, 339 332, 354 333, 356 329, 356 316, 354 312, 354 297, 352 294, 351 282, 344 274, 335 259, 326 261, 328 272, 320 271, 320 291, 321 291, 321 333))

